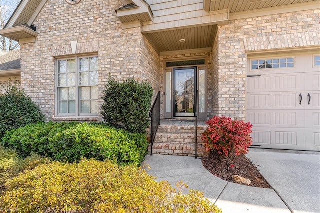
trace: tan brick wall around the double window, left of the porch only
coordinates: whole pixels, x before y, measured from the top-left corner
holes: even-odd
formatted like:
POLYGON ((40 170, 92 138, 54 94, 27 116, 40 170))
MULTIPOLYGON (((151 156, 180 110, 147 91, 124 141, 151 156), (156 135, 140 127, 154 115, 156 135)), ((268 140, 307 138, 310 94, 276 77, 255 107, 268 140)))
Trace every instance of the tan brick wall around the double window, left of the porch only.
POLYGON ((89 0, 74 5, 47 1, 34 21, 39 33, 35 43, 21 45, 21 84, 48 119, 68 119, 54 117, 56 57, 97 53, 99 97, 109 73, 121 80, 147 80, 155 91, 159 89, 158 54, 140 27, 121 29, 117 8, 118 1, 89 0), (76 42, 76 52, 72 52, 71 41, 76 42))

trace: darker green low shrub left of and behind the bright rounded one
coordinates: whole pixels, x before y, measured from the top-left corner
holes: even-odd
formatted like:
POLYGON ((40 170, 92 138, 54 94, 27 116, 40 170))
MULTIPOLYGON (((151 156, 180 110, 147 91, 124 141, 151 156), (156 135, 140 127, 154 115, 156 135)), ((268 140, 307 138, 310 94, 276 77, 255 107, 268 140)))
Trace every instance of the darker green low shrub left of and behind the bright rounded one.
POLYGON ((50 140, 56 134, 75 126, 77 122, 48 122, 29 124, 6 132, 1 139, 5 147, 14 148, 22 157, 30 156, 32 152, 41 156, 53 157, 49 146, 50 140))

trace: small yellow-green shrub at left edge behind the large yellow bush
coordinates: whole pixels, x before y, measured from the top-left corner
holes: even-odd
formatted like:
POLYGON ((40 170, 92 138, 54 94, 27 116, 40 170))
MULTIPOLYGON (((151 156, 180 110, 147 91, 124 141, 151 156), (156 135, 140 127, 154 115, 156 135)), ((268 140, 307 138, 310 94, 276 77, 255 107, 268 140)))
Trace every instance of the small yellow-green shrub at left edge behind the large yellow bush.
POLYGON ((47 158, 36 154, 22 159, 12 149, 4 149, 0 146, 0 191, 4 189, 4 183, 17 176, 26 169, 33 169, 37 165, 48 163, 47 158))

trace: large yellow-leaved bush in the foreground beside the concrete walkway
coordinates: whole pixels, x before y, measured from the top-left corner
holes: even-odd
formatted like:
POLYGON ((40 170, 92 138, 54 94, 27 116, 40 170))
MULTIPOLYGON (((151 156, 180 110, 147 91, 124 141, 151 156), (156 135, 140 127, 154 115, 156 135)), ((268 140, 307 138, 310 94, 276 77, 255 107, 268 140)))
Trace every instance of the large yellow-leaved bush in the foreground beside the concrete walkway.
POLYGON ((52 162, 6 183, 0 211, 14 212, 221 212, 203 193, 176 191, 140 167, 94 159, 52 162))

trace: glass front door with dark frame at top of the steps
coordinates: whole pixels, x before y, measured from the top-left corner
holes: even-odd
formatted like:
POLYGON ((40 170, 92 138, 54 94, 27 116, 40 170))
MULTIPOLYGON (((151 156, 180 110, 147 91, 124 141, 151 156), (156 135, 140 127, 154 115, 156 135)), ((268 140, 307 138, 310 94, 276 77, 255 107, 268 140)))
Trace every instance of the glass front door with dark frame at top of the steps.
POLYGON ((196 67, 173 69, 173 117, 194 116, 196 67))

